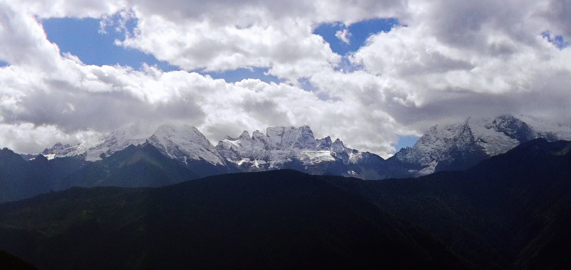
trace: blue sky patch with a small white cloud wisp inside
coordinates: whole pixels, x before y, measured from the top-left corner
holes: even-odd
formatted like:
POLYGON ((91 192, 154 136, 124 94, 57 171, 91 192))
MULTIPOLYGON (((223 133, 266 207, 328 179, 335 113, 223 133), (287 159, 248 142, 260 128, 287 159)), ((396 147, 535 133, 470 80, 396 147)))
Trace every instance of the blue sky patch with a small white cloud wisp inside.
POLYGON ((348 52, 355 52, 360 47, 363 47, 369 36, 381 31, 391 31, 397 25, 399 25, 399 20, 396 18, 370 19, 356 22, 349 26, 345 26, 341 22, 323 23, 315 28, 313 33, 323 36, 323 39, 329 43, 333 52, 347 55, 348 52), (344 36, 349 43, 344 42, 341 36, 344 36))

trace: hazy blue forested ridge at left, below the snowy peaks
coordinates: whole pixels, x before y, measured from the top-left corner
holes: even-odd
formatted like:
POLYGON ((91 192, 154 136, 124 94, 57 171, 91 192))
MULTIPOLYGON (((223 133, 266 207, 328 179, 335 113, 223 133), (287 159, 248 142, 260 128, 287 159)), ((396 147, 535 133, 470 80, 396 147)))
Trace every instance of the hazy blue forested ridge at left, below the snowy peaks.
POLYGON ((26 161, 9 149, 0 150, 0 202, 17 201, 73 186, 159 187, 199 178, 207 169, 195 161, 194 171, 168 158, 150 144, 130 145, 90 162, 78 157, 26 161), (197 172, 199 171, 199 172, 197 172))

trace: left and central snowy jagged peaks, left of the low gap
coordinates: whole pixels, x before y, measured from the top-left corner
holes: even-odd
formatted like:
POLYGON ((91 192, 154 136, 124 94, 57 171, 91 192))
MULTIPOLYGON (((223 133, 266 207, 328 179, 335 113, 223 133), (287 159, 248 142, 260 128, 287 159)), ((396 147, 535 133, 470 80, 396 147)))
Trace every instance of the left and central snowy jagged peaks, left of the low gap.
MULTIPOLYGON (((228 167, 232 171, 272 169, 309 170, 322 162, 343 164, 341 174, 357 175, 352 165, 358 167, 361 159, 381 157, 347 148, 339 139, 316 139, 309 126, 270 127, 266 134, 255 130, 250 136, 246 130, 237 138, 226 136, 214 146, 194 126, 162 125, 151 136, 141 137, 135 128, 123 128, 104 136, 93 136, 77 146, 55 144, 42 152, 47 158, 82 157, 96 161, 129 145, 150 144, 164 156, 186 165, 193 161, 207 162, 208 166, 228 167)), ((144 134, 144 133, 143 133, 144 134)), ((336 171, 340 171, 336 169, 336 171)), ((323 172, 318 170, 317 173, 323 172)))

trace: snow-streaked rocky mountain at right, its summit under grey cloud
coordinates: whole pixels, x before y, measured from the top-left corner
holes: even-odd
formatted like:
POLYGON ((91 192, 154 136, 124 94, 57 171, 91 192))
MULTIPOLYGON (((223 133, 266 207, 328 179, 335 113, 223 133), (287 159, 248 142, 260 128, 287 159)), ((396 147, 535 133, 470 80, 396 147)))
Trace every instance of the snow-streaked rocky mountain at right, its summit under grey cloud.
POLYGON ((391 160, 407 167, 411 176, 440 170, 467 169, 482 159, 508 152, 515 146, 542 137, 571 140, 571 127, 550 128, 540 118, 500 116, 432 126, 412 147, 401 149, 391 160))

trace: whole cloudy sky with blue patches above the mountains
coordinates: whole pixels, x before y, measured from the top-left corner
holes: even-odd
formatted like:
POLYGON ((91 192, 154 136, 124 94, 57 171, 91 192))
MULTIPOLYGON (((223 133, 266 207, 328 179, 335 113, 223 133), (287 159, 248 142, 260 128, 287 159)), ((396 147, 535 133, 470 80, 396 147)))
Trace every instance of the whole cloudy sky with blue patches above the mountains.
POLYGON ((388 158, 468 117, 569 125, 569 25, 562 0, 0 0, 0 147, 309 125, 388 158))

